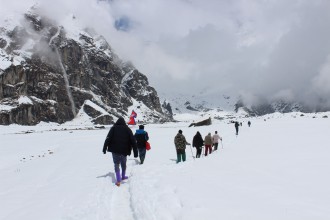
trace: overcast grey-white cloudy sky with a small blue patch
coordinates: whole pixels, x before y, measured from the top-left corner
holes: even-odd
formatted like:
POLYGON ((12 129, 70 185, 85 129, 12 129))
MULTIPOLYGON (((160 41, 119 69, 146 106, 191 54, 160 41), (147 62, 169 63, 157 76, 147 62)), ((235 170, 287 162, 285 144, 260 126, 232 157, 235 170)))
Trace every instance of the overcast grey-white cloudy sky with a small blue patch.
MULTIPOLYGON (((32 0, 0 0, 0 18, 32 0)), ((160 93, 287 98, 330 107, 329 0, 39 0, 92 26, 160 93)))

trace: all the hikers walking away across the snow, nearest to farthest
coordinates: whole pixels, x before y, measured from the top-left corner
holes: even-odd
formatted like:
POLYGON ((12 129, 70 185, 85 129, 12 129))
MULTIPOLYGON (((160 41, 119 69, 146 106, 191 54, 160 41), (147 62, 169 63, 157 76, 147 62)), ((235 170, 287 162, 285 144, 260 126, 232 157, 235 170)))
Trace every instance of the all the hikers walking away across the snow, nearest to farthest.
MULTIPOLYGON (((250 127, 251 122, 248 122, 250 127)), ((238 135, 238 127, 240 124, 235 122, 236 135, 238 135)), ((242 124, 241 124, 242 126, 242 124)), ((174 137, 174 145, 177 153, 176 162, 186 161, 186 145, 191 145, 187 142, 185 136, 182 134, 182 130, 178 131, 178 134, 174 137)), ((111 127, 104 145, 102 152, 112 153, 112 159, 115 167, 116 185, 120 186, 122 180, 128 179, 126 176, 126 162, 127 156, 131 155, 133 150, 134 158, 139 156, 140 164, 144 163, 146 150, 148 145, 148 132, 144 130, 144 126, 140 125, 133 135, 132 130, 126 124, 124 118, 119 117, 116 123, 111 127), (121 167, 121 172, 120 172, 121 167)), ((213 135, 208 133, 204 138, 199 131, 193 137, 192 146, 196 148, 196 158, 200 158, 204 147, 203 155, 207 156, 212 151, 218 150, 219 141, 222 141, 222 137, 217 131, 213 135)))

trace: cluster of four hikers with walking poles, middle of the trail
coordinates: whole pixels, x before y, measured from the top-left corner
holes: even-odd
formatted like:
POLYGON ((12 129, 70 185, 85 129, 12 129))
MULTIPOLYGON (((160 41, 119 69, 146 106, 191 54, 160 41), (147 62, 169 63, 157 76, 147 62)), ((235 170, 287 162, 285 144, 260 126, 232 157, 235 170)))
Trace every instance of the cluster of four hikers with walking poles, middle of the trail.
MULTIPOLYGON (((204 155, 207 156, 211 154, 212 151, 218 149, 219 140, 222 141, 222 137, 219 136, 218 132, 215 131, 214 135, 211 136, 211 133, 208 133, 203 139, 201 133, 197 131, 193 138, 192 145, 196 148, 196 158, 200 158, 202 154, 203 146, 205 146, 204 155), (212 149, 213 147, 213 149, 212 149)), ((182 130, 178 131, 178 134, 174 137, 174 144, 177 153, 177 163, 186 161, 186 145, 191 145, 186 141, 185 136, 182 134, 182 130)))

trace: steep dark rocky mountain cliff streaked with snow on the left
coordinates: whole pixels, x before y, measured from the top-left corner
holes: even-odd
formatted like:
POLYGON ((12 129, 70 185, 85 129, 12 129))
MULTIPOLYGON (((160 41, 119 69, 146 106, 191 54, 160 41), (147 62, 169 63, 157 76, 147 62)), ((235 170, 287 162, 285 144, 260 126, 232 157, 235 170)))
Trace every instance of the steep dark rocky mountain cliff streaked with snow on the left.
POLYGON ((172 120, 147 77, 93 30, 65 30, 33 12, 0 27, 0 124, 63 123, 78 112, 109 124, 134 105, 143 121, 172 120))

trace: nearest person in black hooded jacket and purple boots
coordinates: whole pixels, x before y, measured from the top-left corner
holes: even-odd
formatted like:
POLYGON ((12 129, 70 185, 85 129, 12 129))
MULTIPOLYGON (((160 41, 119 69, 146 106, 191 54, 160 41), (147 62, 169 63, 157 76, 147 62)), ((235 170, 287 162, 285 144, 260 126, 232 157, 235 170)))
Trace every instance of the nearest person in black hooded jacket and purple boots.
POLYGON ((103 145, 103 153, 112 152, 113 163, 115 164, 116 185, 120 186, 121 180, 128 179, 126 173, 127 155, 131 155, 133 148, 134 157, 138 157, 136 140, 132 130, 126 125, 124 118, 120 117, 111 127, 103 145), (122 173, 120 176, 119 164, 122 173))

